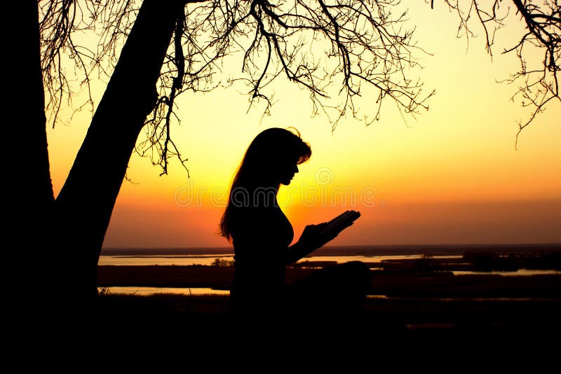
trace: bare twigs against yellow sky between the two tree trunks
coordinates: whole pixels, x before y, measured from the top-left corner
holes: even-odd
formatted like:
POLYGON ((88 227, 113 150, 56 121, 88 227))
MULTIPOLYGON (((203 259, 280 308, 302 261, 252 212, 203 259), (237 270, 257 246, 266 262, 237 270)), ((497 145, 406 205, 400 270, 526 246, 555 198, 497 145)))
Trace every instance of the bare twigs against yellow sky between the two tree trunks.
POLYGON ((124 38, 135 20, 138 4, 133 1, 39 1, 39 32, 41 34, 41 69, 46 89, 48 121, 55 125, 60 109, 66 100, 72 108, 76 92, 85 86, 86 101, 74 108, 79 111, 89 106, 93 111, 94 100, 90 79, 94 71, 109 77, 124 38), (97 36, 97 50, 76 42, 84 34, 97 36), (75 74, 68 69, 74 64, 75 74), (78 86, 72 75, 81 76, 78 86))

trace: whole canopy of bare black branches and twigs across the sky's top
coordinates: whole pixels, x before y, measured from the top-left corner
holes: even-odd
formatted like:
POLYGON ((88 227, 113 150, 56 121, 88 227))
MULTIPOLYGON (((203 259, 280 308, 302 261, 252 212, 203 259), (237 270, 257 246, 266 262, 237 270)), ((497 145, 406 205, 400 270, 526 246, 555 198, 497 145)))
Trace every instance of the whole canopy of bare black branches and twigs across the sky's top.
MULTIPOLYGON (((81 84, 89 90, 90 77, 109 75, 119 48, 135 22, 140 4, 135 1, 39 2, 42 66, 48 92, 48 109, 56 120, 63 98, 71 98, 74 87, 60 69, 61 53, 66 53, 81 72, 81 84), (98 32, 96 50, 76 44, 77 32, 98 32)), ((407 23, 407 9, 398 0, 389 1, 182 1, 173 41, 158 79, 158 101, 147 117, 146 141, 137 151, 150 155, 167 173, 168 160, 184 160, 170 137, 175 118, 175 97, 181 92, 208 91, 218 85, 244 83, 250 101, 271 106, 273 81, 285 78, 309 90, 313 111, 323 112, 336 126, 347 114, 366 123, 378 120, 381 103, 391 101, 405 113, 428 109, 428 97, 414 75, 416 53, 425 53, 412 39, 414 25, 407 23), (313 42, 313 43, 312 43, 313 42), (234 60, 231 56, 236 56, 234 60), (236 69, 224 67, 224 60, 236 69), (224 71, 233 76, 224 76, 224 71), (372 89, 373 110, 360 110, 355 99, 372 89)), ((525 33, 518 43, 502 46, 502 53, 514 53, 520 70, 503 81, 515 83, 513 99, 529 108, 519 132, 551 100, 560 100, 557 71, 560 64, 560 6, 557 1, 476 1, 445 0, 459 20, 458 36, 471 38, 482 31, 486 50, 493 55, 495 37, 507 16, 515 13, 525 33), (532 48, 543 59, 527 57, 532 48)), ((431 1, 434 7, 434 1, 431 1)), ((438 6, 438 4, 437 4, 438 6)), ((499 77, 503 78, 503 77, 499 77)), ((93 109, 93 99, 86 103, 93 109)), ((517 141, 518 141, 517 134, 517 141)))

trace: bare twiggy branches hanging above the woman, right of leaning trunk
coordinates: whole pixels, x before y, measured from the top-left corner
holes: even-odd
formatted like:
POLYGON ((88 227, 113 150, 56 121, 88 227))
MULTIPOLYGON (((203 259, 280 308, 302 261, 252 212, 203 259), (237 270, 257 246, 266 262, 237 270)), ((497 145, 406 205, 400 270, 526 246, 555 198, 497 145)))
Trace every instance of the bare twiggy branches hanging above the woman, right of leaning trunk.
POLYGON ((241 83, 250 106, 264 100, 266 114, 272 105, 269 87, 277 79, 286 79, 308 90, 313 114, 325 113, 333 128, 347 114, 367 124, 378 120, 381 103, 386 101, 410 115, 428 109, 426 100, 433 92, 422 95, 421 83, 408 78, 412 68, 418 67, 414 53, 424 51, 412 42, 412 31, 404 28, 407 13, 393 16, 391 11, 398 4, 397 0, 188 4, 182 38, 184 67, 170 53, 161 74, 161 97, 147 120, 146 141, 137 152, 149 155, 165 174, 168 158, 179 156, 175 146, 170 151, 169 138, 171 121, 180 123, 172 115, 175 97, 219 85, 241 83), (241 64, 232 69, 237 55, 241 64), (178 76, 183 77, 180 88, 175 83, 178 76), (359 109, 355 98, 367 101, 372 91, 377 93, 370 99, 370 110, 359 109))

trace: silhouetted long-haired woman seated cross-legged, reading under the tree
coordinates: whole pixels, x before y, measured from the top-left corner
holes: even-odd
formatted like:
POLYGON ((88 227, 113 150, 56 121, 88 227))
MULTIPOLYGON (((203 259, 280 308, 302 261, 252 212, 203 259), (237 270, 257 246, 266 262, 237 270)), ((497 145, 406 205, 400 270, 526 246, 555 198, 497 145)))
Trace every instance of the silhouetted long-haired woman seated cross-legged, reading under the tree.
POLYGON ((326 223, 309 225, 291 244, 294 232, 278 206, 277 192, 288 185, 311 148, 282 128, 255 137, 231 185, 220 230, 234 244, 235 273, 231 289, 234 310, 242 317, 307 312, 334 312, 362 302, 370 286, 370 271, 352 261, 318 270, 292 284, 285 267, 332 240, 338 233, 320 231, 326 223))

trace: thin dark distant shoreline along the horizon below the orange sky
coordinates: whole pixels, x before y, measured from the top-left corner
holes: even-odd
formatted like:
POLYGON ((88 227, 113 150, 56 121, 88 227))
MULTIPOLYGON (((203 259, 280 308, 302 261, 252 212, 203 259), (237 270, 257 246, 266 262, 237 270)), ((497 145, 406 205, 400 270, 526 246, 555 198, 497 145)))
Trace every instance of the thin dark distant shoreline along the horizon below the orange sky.
MULTIPOLYGON (((364 256, 364 255, 460 255, 466 251, 494 253, 561 252, 561 243, 538 244, 407 244, 407 245, 348 245, 323 247, 313 256, 364 256)), ((233 255, 232 247, 192 248, 104 248, 102 256, 154 256, 154 255, 233 255)))

